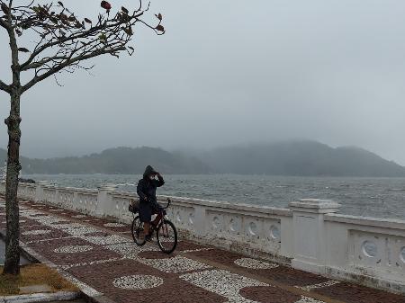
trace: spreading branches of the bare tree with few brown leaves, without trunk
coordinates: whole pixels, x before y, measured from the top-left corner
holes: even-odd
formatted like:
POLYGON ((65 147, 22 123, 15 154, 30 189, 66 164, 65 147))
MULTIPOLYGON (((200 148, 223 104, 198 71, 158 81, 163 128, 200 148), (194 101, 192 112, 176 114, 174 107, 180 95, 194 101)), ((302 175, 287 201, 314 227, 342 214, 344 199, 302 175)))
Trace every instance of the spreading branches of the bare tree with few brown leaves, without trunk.
MULTIPOLYGON (((161 25, 161 13, 155 15, 156 26, 140 19, 149 9, 149 4, 147 8, 142 7, 142 0, 139 0, 137 10, 130 12, 121 6, 115 14, 111 13, 112 5, 103 1, 101 6, 105 11, 99 13, 93 21, 77 18, 76 14, 71 13, 60 1, 58 4, 39 4, 39 1, 30 0, 31 4, 15 7, 10 6, 12 0, 8 1, 9 6, 2 10, 8 17, 8 22, 3 22, 8 25, 10 38, 15 40, 26 31, 31 31, 38 37, 31 49, 16 45, 12 49, 15 58, 18 58, 19 52, 30 53, 23 64, 14 62, 15 72, 34 70, 31 80, 20 86, 22 94, 33 85, 59 72, 73 73, 76 68, 88 70, 88 67, 83 67, 80 63, 89 58, 104 54, 118 58, 121 51, 132 55, 134 48, 127 45, 133 38, 137 24, 147 26, 158 35, 165 33, 165 28, 161 25), (37 4, 34 4, 35 2, 37 4)), ((0 4, 2 3, 4 0, 0 0, 0 4)))

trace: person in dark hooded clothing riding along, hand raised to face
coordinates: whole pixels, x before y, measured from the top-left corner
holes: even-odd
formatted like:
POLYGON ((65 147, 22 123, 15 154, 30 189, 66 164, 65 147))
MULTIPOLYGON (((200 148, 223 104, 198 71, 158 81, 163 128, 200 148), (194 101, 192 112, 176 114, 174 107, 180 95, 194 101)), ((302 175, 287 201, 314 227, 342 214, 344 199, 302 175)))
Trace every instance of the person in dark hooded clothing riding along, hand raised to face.
POLYGON ((139 195, 139 219, 143 222, 143 236, 146 240, 150 240, 152 232, 150 224, 156 225, 160 220, 160 214, 164 209, 157 203, 156 189, 163 186, 165 181, 161 174, 148 165, 143 173, 143 178, 139 180, 137 193, 139 195), (157 177, 157 179, 156 179, 157 177), (150 222, 152 215, 157 214, 154 222, 150 222))

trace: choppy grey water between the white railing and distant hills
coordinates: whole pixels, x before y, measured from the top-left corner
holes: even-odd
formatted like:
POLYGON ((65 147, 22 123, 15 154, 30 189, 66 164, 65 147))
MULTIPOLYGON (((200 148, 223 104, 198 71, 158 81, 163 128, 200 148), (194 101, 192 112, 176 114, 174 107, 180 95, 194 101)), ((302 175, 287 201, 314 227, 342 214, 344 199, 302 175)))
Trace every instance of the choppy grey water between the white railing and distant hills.
MULTIPOLYGON (((115 183, 136 191, 140 175, 25 175, 61 186, 96 188, 115 183)), ((341 212, 377 218, 405 219, 405 178, 314 178, 266 175, 166 175, 160 194, 235 203, 286 207, 290 201, 319 198, 338 201, 341 212)))

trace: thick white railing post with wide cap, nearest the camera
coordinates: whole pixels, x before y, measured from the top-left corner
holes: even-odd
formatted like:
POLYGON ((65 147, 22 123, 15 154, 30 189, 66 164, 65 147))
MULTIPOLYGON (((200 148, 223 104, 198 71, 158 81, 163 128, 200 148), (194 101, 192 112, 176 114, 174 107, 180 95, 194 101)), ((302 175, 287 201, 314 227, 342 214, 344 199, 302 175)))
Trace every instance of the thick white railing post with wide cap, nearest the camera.
POLYGON ((293 261, 296 269, 325 273, 326 238, 324 215, 338 212, 330 200, 302 199, 290 203, 293 210, 293 261))

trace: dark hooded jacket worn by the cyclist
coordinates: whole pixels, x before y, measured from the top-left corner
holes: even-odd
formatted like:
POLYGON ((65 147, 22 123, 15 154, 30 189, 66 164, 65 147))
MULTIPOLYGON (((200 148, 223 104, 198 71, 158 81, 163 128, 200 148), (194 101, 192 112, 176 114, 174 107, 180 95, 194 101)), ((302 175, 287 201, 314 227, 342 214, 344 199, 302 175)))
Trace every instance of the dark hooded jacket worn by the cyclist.
POLYGON ((145 169, 145 173, 143 173, 143 178, 139 180, 137 186, 140 203, 156 203, 156 189, 165 184, 160 174, 157 175, 158 180, 150 180, 149 177, 151 174, 157 174, 157 171, 155 171, 152 166, 148 165, 145 169))

